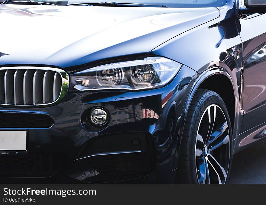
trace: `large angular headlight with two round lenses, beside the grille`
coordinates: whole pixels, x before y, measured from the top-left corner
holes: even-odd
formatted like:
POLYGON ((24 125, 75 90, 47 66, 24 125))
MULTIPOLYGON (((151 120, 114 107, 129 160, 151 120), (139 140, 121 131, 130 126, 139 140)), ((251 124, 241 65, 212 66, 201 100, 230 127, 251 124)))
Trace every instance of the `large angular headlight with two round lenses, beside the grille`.
POLYGON ((181 64, 163 57, 111 63, 71 75, 71 90, 140 90, 162 87, 180 70, 181 64))

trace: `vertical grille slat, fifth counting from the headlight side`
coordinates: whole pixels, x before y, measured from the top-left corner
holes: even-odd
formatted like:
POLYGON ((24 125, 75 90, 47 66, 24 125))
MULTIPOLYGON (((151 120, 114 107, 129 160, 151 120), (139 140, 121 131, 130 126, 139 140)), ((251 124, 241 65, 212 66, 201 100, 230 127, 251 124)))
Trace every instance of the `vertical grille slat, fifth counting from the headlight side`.
POLYGON ((24 70, 17 70, 14 74, 14 104, 24 104, 23 76, 24 76, 24 70))

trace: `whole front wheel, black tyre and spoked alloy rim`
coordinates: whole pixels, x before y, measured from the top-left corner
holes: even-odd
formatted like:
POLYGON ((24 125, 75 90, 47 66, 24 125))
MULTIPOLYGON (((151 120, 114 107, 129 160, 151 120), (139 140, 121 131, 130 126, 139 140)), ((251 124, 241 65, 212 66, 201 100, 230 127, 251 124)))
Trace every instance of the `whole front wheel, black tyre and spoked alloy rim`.
POLYGON ((232 127, 222 98, 199 89, 190 104, 180 145, 178 183, 225 184, 232 165, 232 127))

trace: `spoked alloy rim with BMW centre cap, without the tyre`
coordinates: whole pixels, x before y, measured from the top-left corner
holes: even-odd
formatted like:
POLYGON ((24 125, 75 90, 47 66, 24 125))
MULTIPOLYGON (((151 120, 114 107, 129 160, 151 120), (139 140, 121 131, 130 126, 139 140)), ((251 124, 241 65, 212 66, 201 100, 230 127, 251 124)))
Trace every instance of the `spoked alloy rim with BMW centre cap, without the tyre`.
POLYGON ((212 104, 204 111, 196 137, 195 163, 199 184, 224 184, 230 163, 229 128, 222 109, 212 104))

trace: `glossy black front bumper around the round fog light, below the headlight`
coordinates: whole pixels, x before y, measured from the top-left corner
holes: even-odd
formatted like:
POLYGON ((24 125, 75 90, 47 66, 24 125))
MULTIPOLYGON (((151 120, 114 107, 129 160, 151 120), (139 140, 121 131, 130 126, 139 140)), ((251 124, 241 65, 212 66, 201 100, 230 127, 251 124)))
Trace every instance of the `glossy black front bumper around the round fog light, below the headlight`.
POLYGON ((186 87, 195 71, 183 66, 163 88, 125 92, 68 93, 57 105, 0 108, 1 114, 49 116, 21 126, 2 123, 0 130, 26 130, 28 150, 0 156, 2 177, 49 177, 61 171, 86 182, 111 182, 149 175, 157 182, 174 178, 174 158, 186 87), (86 121, 93 107, 108 111, 104 129, 86 121), (139 143, 134 144, 134 139, 139 143))

